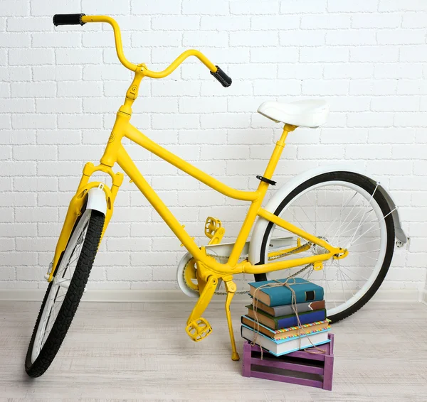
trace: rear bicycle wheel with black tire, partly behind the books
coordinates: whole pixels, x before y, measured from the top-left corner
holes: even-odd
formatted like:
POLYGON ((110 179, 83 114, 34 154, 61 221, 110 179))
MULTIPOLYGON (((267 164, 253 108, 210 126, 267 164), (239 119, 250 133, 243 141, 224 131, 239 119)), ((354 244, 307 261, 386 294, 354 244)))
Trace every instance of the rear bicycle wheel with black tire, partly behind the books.
MULTIPOLYGON (((356 173, 318 175, 292 190, 275 214, 305 232, 349 251, 344 259, 325 261, 321 271, 314 271, 312 266, 308 266, 297 275, 324 288, 327 315, 332 322, 352 315, 376 293, 391 264, 394 222, 388 203, 374 183, 356 173)), ((295 234, 270 222, 261 245, 262 264, 268 263, 269 253, 277 251, 275 244, 283 242, 277 239, 284 238, 296 246, 295 234)), ((301 244, 307 243, 304 239, 300 241, 301 244)), ((312 244, 309 249, 282 259, 325 252, 326 249, 312 244)), ((286 278, 301 268, 276 271, 268 273, 268 276, 258 274, 255 281, 286 278)))

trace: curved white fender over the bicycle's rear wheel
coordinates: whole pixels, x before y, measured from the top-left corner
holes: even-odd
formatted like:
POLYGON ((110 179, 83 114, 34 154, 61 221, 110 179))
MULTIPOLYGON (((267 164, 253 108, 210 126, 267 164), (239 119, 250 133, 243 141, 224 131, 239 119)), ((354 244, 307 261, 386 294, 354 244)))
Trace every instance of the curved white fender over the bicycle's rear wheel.
MULTIPOLYGON (((344 164, 327 165, 327 166, 319 166, 317 168, 307 170, 307 172, 304 172, 304 173, 301 173, 300 175, 295 176, 295 178, 290 179, 288 183, 286 183, 281 188, 279 188, 275 192, 273 197, 271 197, 270 201, 268 201, 267 205, 265 205, 264 209, 267 210, 268 212, 274 213, 277 207, 280 205, 280 202, 282 202, 283 199, 292 190, 297 188, 300 184, 304 183, 306 180, 313 178, 317 175, 322 175, 323 173, 330 173, 335 171, 359 173, 359 175, 362 175, 365 178, 371 180, 372 183, 378 184, 377 191, 379 190, 381 194, 384 195, 384 198, 389 203, 390 210, 393 211, 391 214, 394 220, 394 230, 396 232, 396 238, 399 241, 401 241, 403 244, 406 243, 407 238, 406 238, 406 234, 404 233, 401 227, 399 212, 397 210, 397 207, 396 207, 396 204, 394 203, 393 198, 389 193, 389 190, 387 190, 384 187, 384 185, 381 185, 381 183, 370 178, 366 172, 358 170, 352 165, 344 165, 344 164)), ((249 262, 251 262, 251 264, 257 264, 260 261, 261 242, 263 240, 263 236, 267 226, 268 226, 268 220, 258 217, 257 222, 255 223, 255 227, 253 228, 251 244, 249 245, 249 262)))

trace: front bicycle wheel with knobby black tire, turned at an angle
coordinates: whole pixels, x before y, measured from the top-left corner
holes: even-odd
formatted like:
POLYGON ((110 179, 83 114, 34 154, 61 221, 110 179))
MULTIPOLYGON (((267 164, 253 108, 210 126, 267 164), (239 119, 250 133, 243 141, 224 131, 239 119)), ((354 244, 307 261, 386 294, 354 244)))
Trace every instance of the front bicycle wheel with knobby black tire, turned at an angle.
POLYGON ((58 353, 88 282, 104 220, 100 212, 85 210, 75 223, 38 313, 26 354, 28 376, 41 376, 58 353))

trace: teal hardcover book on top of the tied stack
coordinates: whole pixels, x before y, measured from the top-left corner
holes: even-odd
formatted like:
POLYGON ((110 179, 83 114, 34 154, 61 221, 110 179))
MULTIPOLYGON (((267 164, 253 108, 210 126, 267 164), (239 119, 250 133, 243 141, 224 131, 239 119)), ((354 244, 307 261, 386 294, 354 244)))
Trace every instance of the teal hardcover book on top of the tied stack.
POLYGON ((286 286, 275 286, 273 288, 265 287, 260 290, 256 290, 260 286, 265 286, 268 283, 284 283, 286 281, 288 281, 288 285, 295 291, 296 303, 323 300, 322 286, 316 285, 315 283, 309 282, 307 279, 303 278, 286 278, 276 279, 275 281, 251 282, 249 283, 249 286, 251 286, 249 293, 251 293, 253 298, 260 300, 260 302, 270 307, 290 304, 292 303, 292 292, 286 286))

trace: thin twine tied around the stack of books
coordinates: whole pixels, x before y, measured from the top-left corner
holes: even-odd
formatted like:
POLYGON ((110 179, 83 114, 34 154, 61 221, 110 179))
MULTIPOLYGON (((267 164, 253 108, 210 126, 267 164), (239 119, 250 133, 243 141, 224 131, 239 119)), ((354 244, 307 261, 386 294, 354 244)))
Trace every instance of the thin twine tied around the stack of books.
MULTIPOLYGON (((295 278, 286 278, 285 282, 280 282, 280 281, 277 281, 276 279, 273 279, 273 281, 275 283, 265 283, 265 285, 261 285, 260 287, 255 288, 255 291, 253 292, 253 300, 256 299, 256 293, 258 292, 258 290, 263 289, 263 288, 278 288, 279 286, 285 286, 285 288, 288 288, 290 290, 290 293, 292 295, 290 305, 292 306, 292 310, 295 313, 295 317, 297 317, 297 324, 298 324, 297 325, 297 327, 298 327, 298 339, 299 339, 298 349, 301 349, 301 332, 303 332, 304 335, 307 335, 307 332, 305 332, 304 328, 302 327, 300 317, 299 317, 298 312, 297 312, 297 297, 295 295, 295 290, 292 288, 292 286, 302 285, 302 284, 310 283, 310 282, 305 281, 305 282, 296 283, 295 278), (290 280, 292 280, 293 282, 292 283, 289 282, 290 280)), ((258 339, 258 334, 260 333, 260 322, 258 320, 257 311, 258 311, 258 303, 254 303, 253 304, 253 316, 254 316, 255 322, 256 322, 256 330, 254 331, 254 337, 253 337, 253 340, 251 342, 251 346, 255 345, 256 340, 258 339)), ((325 349, 322 349, 320 347, 315 346, 315 344, 313 344, 313 342, 311 341, 309 336, 307 336, 307 339, 315 350, 306 350, 305 349, 304 352, 310 353, 310 354, 325 354, 326 353, 325 349)), ((263 359, 263 348, 260 347, 260 350, 261 350, 261 360, 262 360, 263 359)))

